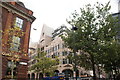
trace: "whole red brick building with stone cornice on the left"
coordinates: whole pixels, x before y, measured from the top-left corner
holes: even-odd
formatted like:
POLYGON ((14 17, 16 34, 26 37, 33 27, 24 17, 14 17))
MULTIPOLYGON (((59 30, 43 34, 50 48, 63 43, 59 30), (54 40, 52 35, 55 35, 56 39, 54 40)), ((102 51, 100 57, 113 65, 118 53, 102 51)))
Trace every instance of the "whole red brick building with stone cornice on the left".
POLYGON ((33 12, 22 2, 2 2, 2 78, 27 78, 33 12))

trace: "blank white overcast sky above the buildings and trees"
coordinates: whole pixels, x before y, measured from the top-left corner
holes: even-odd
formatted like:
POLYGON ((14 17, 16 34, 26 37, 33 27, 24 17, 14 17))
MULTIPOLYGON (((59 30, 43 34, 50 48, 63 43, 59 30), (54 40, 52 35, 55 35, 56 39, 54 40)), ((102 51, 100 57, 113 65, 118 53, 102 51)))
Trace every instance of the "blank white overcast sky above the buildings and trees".
POLYGON ((111 12, 118 12, 118 0, 20 0, 25 7, 34 12, 36 20, 31 28, 31 40, 37 42, 40 39, 43 24, 56 29, 62 24, 66 24, 66 19, 71 16, 74 10, 79 10, 84 5, 96 2, 111 2, 111 12), (36 28, 37 30, 33 30, 36 28))

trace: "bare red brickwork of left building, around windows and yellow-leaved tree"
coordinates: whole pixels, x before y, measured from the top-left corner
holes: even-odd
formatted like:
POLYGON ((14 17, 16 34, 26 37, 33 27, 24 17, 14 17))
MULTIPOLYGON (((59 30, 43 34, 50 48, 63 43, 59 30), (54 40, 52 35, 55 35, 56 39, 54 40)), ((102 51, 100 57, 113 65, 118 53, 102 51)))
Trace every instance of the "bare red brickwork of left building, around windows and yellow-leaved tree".
MULTIPOLYGON (((4 6, 6 7, 2 7, 2 30, 5 32, 5 34, 3 34, 3 43, 5 44, 5 48, 3 48, 3 51, 6 52, 7 49, 7 42, 8 42, 8 33, 7 30, 9 28, 11 28, 14 24, 14 20, 15 18, 18 16, 21 19, 24 20, 24 24, 23 24, 23 31, 25 32, 25 35, 22 37, 22 41, 21 41, 21 49, 25 49, 26 52, 28 52, 28 46, 29 46, 29 38, 30 38, 30 28, 31 28, 31 23, 30 20, 34 21, 32 16, 32 11, 26 9, 23 6, 20 6, 17 3, 3 3, 4 6), (26 14, 24 13, 20 13, 18 10, 15 11, 15 9, 13 9, 12 7, 10 7, 10 5, 16 7, 19 10, 22 10, 24 13, 28 14, 28 16, 26 16, 26 14), (9 7, 9 8, 7 8, 9 7), (19 14, 17 14, 17 13, 19 14), (31 17, 29 17, 31 15, 31 17)), ((20 53, 21 58, 19 62, 25 62, 28 63, 28 56, 24 55, 23 53, 20 53)), ((5 77, 6 74, 6 70, 7 70, 7 62, 8 60, 6 59, 5 56, 2 57, 2 77, 5 77)), ((27 78, 27 71, 28 71, 28 66, 27 65, 22 65, 22 64, 18 64, 17 66, 17 78, 27 78)))

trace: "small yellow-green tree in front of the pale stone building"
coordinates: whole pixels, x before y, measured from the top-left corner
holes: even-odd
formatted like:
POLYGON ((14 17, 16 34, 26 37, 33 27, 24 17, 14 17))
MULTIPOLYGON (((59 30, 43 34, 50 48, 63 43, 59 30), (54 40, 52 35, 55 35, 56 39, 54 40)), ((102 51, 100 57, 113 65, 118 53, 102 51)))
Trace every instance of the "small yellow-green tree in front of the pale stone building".
POLYGON ((30 70, 34 70, 34 72, 37 73, 41 72, 44 76, 46 73, 50 73, 50 75, 53 75, 53 72, 57 69, 57 58, 48 58, 46 57, 46 53, 40 52, 39 49, 37 51, 37 54, 38 55, 35 57, 36 63, 30 67, 30 70))

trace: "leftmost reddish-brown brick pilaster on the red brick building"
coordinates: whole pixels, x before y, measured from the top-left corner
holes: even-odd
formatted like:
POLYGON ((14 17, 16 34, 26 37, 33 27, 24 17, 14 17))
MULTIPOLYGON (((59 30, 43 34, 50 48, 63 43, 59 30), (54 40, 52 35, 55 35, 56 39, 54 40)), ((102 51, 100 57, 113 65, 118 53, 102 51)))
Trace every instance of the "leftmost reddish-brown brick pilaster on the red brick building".
MULTIPOLYGON (((2 13, 3 16, 4 13, 2 13)), ((2 27, 4 27, 4 34, 2 35, 2 45, 4 44, 4 46, 2 46, 2 52, 6 52, 7 51, 7 42, 8 42, 8 38, 9 38, 9 32, 8 32, 8 29, 11 28, 11 22, 13 21, 12 18, 13 18, 13 14, 11 11, 8 11, 8 15, 7 16, 7 19, 6 19, 6 25, 2 25, 2 27)), ((2 59, 3 59, 4 56, 2 56, 2 59)), ((5 61, 2 61, 2 65, 5 65, 4 67, 2 67, 2 77, 5 76, 5 73, 6 73, 6 70, 7 70, 7 61, 6 61, 6 58, 4 57, 4 60, 5 61)))

